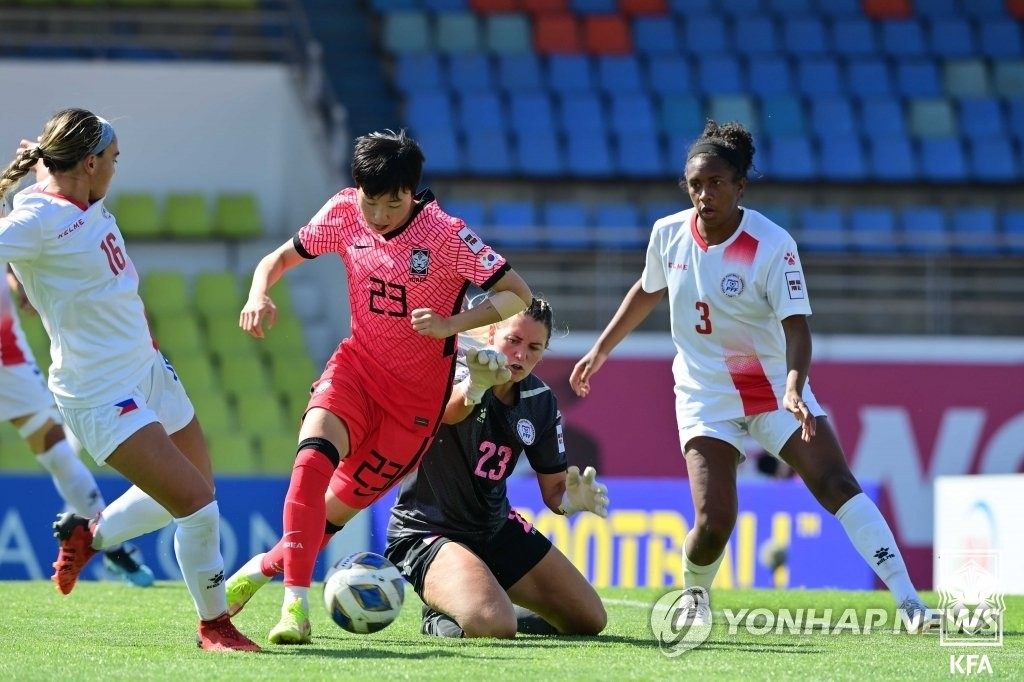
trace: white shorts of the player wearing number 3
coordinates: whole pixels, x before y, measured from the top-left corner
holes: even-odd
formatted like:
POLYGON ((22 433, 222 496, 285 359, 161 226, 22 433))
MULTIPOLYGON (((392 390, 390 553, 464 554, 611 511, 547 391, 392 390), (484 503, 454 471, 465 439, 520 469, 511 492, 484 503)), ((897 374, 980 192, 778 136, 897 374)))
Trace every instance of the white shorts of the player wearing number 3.
MULTIPOLYGON (((812 415, 821 417, 825 414, 809 387, 804 388, 803 398, 812 415)), ((746 436, 751 436, 767 453, 778 458, 786 441, 799 429, 800 422, 797 421, 797 418, 792 413, 785 410, 764 412, 760 415, 728 419, 722 422, 705 423, 688 421, 684 423, 680 420, 679 446, 685 454, 686 443, 693 438, 698 436, 717 438, 735 447, 739 454, 739 462, 742 462, 746 459, 743 441, 746 436)))

